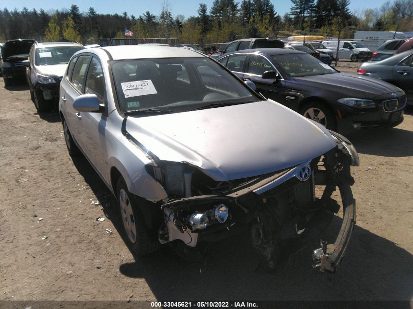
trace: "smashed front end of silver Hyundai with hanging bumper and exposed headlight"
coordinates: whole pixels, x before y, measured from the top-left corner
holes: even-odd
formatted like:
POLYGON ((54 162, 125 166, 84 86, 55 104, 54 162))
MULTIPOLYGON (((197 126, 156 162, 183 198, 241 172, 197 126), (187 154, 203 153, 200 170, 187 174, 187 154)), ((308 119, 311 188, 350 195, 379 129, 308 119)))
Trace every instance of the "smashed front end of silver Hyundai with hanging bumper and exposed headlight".
POLYGON ((214 181, 196 166, 159 162, 147 171, 168 192, 161 209, 161 243, 180 241, 196 247, 250 229, 254 247, 275 268, 281 244, 294 238, 319 237, 340 209, 332 199, 339 188, 343 223, 334 244, 321 242, 313 267, 335 272, 355 224, 350 165, 358 165, 354 147, 331 132, 336 146, 319 157, 281 171, 231 181, 214 181), (319 186, 323 193, 316 194, 319 186), (322 187, 320 187, 322 188, 322 187))

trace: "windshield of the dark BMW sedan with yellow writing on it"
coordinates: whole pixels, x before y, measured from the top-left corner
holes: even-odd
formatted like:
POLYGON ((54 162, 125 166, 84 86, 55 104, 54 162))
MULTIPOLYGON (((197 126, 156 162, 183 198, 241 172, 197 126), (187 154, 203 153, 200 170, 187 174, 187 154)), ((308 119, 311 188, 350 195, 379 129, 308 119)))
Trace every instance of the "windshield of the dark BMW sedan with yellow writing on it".
POLYGON ((282 54, 272 58, 291 77, 337 73, 331 66, 310 54, 282 54))

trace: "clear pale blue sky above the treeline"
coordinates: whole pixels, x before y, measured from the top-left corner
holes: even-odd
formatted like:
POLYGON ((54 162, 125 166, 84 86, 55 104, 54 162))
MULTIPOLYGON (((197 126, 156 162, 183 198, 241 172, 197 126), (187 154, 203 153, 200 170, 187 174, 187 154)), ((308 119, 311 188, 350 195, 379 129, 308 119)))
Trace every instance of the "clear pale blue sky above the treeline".
MULTIPOLYGON (((242 0, 236 0, 241 2, 242 0)), ((350 0, 349 8, 352 12, 361 12, 366 8, 380 7, 387 0, 350 0)), ((176 16, 182 14, 185 18, 198 15, 197 10, 199 3, 205 3, 208 11, 211 8, 213 0, 169 0, 172 15, 176 16)), ((271 0, 274 4, 275 10, 278 14, 283 16, 290 11, 290 0, 271 0)), ((95 11, 100 14, 122 14, 128 12, 128 15, 134 15, 136 18, 143 15, 146 11, 150 11, 153 15, 158 16, 161 12, 162 3, 164 0, 135 0, 135 1, 120 1, 120 0, 14 0, 5 1, 0 4, 1 9, 5 6, 7 9, 13 10, 15 7, 21 11, 23 7, 29 10, 36 8, 37 10, 43 8, 46 12, 52 10, 69 9, 70 5, 76 4, 79 6, 81 12, 87 12, 89 7, 94 7, 95 11)), ((357 15, 357 14, 356 14, 357 15)))

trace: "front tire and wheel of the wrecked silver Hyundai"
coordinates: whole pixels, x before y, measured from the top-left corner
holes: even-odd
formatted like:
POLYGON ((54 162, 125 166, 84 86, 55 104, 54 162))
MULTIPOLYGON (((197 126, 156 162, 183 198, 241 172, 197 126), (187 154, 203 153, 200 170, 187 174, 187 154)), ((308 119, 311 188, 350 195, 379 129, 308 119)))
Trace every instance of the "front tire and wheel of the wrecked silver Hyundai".
MULTIPOLYGON (((156 251, 160 247, 157 239, 157 229, 160 224, 151 224, 151 228, 145 222, 145 218, 152 218, 150 209, 155 206, 130 193, 122 177, 117 183, 117 197, 122 225, 126 234, 125 240, 130 250, 139 256, 156 251)), ((159 213, 161 213, 160 209, 159 213)), ((152 223, 154 222, 156 220, 153 220, 152 223)))

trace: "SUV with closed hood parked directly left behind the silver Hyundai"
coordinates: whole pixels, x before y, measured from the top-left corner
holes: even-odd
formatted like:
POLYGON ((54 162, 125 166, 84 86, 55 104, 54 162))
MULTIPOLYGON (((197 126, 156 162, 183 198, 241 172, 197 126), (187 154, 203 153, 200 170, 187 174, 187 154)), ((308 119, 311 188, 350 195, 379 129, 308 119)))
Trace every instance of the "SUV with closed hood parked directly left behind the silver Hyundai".
POLYGON ((81 49, 85 47, 71 42, 35 42, 32 45, 29 59, 23 61, 23 65, 31 99, 39 112, 49 110, 53 102, 59 102, 60 81, 67 63, 81 49))

